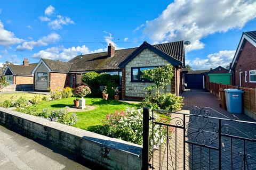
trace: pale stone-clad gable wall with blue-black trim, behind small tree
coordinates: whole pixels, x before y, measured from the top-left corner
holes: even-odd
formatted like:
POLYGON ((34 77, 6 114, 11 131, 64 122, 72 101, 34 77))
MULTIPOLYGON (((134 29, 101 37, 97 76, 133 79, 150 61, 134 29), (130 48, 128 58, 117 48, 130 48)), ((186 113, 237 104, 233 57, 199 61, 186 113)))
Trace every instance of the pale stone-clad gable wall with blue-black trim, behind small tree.
MULTIPOLYGON (((138 56, 133 58, 125 66, 125 95, 127 97, 144 97, 145 87, 152 83, 131 82, 131 67, 163 66, 170 64, 163 57, 155 54, 149 49, 144 49, 138 56)), ((163 92, 171 92, 171 84, 163 89, 163 92)))

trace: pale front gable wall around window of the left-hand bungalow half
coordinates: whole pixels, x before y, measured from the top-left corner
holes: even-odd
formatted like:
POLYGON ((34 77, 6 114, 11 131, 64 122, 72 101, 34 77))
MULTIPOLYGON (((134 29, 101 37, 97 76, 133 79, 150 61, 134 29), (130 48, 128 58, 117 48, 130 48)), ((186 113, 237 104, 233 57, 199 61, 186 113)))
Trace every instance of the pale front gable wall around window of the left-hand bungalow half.
POLYGON ((41 63, 39 67, 36 69, 35 74, 34 74, 34 79, 35 79, 35 90, 48 90, 50 87, 50 74, 46 66, 41 63), (48 81, 37 81, 37 73, 43 73, 47 72, 48 73, 48 81))

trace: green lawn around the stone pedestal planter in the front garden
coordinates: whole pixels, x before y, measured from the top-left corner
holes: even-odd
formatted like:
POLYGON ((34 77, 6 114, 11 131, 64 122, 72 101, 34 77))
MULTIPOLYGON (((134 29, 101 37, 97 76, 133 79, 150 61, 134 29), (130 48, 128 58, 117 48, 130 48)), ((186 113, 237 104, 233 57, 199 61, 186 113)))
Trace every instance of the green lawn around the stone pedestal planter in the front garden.
MULTIPOLYGON (((44 108, 59 109, 63 107, 73 107, 75 97, 64 98, 53 101, 43 101, 36 106, 37 112, 42 112, 44 108)), ((98 125, 102 125, 102 120, 107 114, 115 111, 123 111, 127 107, 138 107, 136 104, 129 104, 115 100, 103 100, 101 98, 85 98, 86 105, 95 106, 95 109, 85 112, 76 112, 78 122, 74 125, 77 128, 93 131, 98 125)), ((72 112, 73 113, 73 112, 72 112)))

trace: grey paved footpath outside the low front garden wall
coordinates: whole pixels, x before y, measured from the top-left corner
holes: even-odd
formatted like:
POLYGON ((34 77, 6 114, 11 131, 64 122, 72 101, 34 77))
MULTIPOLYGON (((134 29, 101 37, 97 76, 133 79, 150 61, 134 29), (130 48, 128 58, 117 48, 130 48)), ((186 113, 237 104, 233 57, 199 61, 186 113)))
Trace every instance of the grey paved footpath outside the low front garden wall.
POLYGON ((75 162, 75 156, 50 148, 0 126, 1 170, 89 169, 75 162))

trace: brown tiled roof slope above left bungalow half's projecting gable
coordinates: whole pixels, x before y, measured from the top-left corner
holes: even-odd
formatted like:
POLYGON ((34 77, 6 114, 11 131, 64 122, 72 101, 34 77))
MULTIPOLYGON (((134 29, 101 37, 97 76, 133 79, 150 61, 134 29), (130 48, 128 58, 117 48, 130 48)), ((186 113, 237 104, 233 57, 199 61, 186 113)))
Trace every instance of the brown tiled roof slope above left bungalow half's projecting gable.
POLYGON ((72 63, 68 63, 68 62, 48 60, 44 58, 42 58, 42 61, 49 67, 49 69, 52 72, 68 73, 72 65, 72 63))

